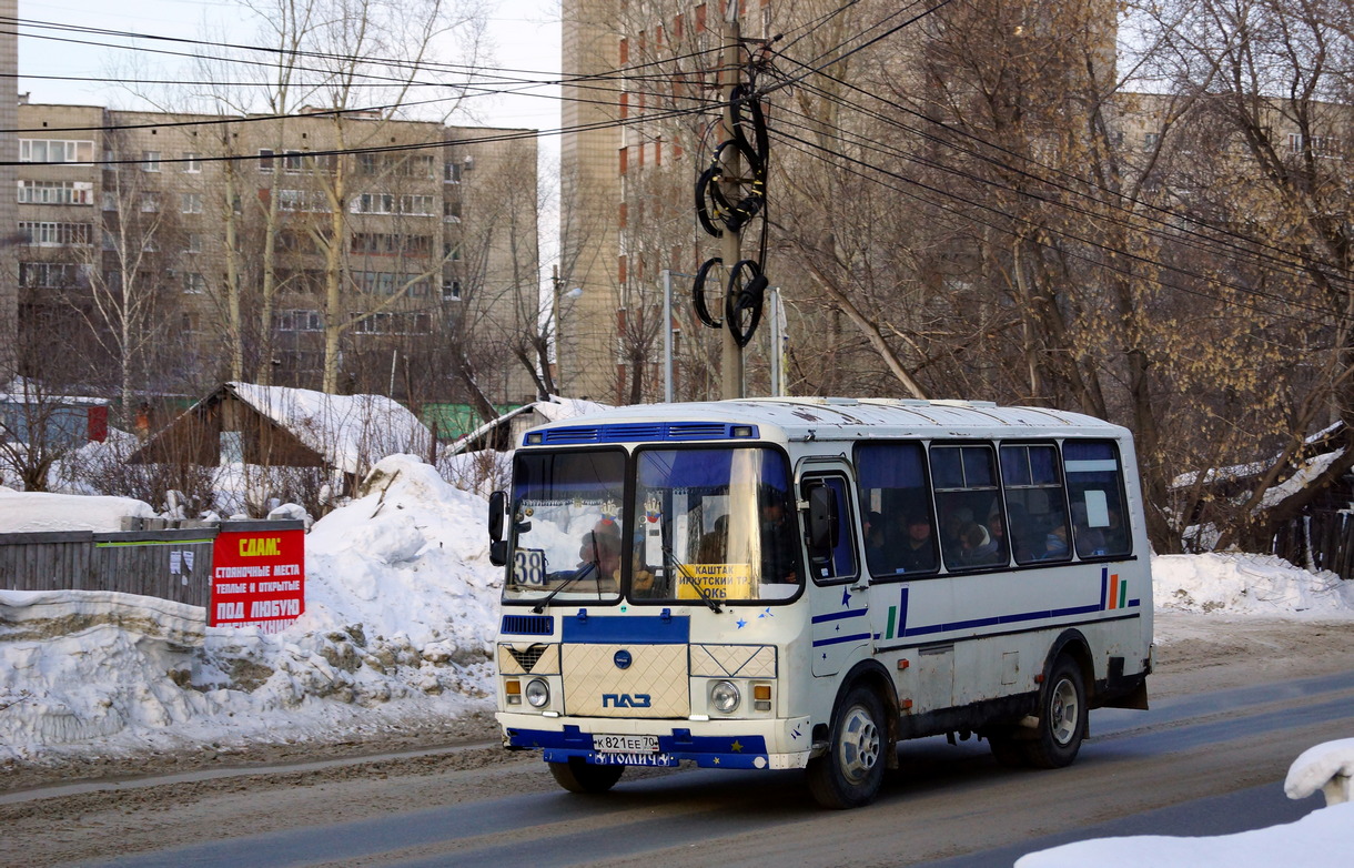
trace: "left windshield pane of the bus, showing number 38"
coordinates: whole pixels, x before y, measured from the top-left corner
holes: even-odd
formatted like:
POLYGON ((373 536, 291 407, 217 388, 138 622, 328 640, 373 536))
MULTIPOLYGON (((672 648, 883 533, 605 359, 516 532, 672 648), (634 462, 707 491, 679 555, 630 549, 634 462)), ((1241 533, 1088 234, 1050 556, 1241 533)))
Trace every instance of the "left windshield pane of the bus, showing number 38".
POLYGON ((504 600, 620 599, 623 450, 519 452, 504 600))

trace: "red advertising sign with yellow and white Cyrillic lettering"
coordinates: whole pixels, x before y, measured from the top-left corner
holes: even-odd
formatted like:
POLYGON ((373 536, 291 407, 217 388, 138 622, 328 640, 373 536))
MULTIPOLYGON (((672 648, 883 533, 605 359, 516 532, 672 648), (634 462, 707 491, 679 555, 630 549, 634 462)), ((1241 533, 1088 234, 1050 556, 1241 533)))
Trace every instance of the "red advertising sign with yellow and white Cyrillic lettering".
POLYGON ((225 529, 211 554, 211 627, 279 632, 306 611, 306 532, 225 529))

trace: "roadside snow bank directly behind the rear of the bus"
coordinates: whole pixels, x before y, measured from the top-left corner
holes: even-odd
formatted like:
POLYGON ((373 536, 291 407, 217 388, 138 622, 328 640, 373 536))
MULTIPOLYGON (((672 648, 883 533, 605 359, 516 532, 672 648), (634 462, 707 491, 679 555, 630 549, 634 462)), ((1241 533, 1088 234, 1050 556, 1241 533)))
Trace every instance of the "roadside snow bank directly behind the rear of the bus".
POLYGON ((1156 608, 1271 617, 1354 617, 1354 582, 1312 574, 1273 555, 1152 558, 1156 608))

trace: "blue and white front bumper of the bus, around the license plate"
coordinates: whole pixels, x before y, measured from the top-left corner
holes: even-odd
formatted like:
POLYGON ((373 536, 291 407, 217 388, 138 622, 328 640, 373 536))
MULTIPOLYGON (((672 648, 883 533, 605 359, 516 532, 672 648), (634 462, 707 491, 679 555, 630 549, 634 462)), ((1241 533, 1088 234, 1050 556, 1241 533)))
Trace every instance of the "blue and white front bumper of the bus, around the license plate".
MULTIPOLYGON (((504 747, 542 750, 547 762, 582 757, 594 765, 674 766, 689 760, 701 768, 795 769, 808 762, 808 718, 765 720, 636 720, 543 718, 500 711, 504 747), (594 735, 598 737, 594 739, 594 735), (657 750, 603 747, 605 735, 655 737, 657 750)), ((653 745, 653 742, 649 742, 653 745)))

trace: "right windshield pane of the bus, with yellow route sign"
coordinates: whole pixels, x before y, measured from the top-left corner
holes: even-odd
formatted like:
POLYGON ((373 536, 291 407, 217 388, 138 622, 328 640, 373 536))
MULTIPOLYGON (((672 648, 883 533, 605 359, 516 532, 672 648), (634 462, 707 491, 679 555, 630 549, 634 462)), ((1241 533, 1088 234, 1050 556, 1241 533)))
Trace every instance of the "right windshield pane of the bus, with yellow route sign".
POLYGON ((766 448, 642 450, 630 596, 784 600, 803 582, 785 456, 766 448))

